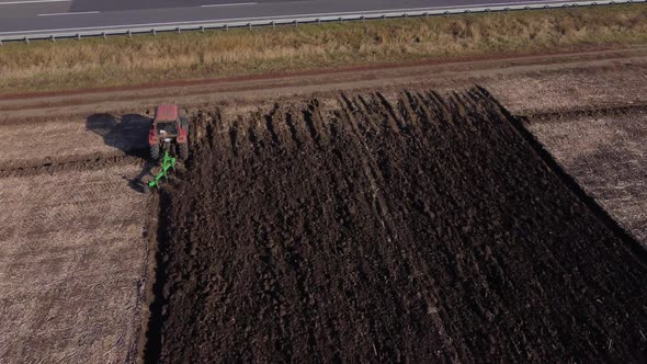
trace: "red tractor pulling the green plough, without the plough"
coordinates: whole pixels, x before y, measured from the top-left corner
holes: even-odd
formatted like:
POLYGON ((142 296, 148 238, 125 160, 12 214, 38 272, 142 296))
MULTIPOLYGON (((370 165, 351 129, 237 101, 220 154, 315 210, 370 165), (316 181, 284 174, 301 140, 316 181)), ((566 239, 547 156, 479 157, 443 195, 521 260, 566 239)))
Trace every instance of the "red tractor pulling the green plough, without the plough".
POLYGON ((159 105, 148 132, 150 158, 158 160, 160 151, 177 152, 181 160, 189 158, 189 120, 180 115, 178 105, 159 105))

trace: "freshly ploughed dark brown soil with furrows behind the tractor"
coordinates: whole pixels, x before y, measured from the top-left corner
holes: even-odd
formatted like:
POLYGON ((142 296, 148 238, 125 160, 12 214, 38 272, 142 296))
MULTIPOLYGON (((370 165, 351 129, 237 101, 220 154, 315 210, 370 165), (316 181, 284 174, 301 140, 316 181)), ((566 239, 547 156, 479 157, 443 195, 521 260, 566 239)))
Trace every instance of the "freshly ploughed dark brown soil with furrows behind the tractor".
POLYGON ((645 255, 512 123, 479 90, 200 115, 148 359, 644 361, 645 255))

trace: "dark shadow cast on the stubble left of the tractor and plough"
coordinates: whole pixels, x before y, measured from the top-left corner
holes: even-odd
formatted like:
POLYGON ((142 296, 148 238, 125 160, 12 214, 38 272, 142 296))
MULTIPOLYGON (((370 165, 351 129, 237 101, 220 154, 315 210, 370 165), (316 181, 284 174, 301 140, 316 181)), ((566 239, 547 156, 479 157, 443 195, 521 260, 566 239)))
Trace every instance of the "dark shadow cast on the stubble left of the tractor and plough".
POLYGON ((139 114, 122 116, 102 113, 92 114, 86 120, 86 130, 103 138, 105 145, 123 151, 126 156, 139 157, 146 160, 141 172, 128 180, 128 185, 139 192, 146 192, 144 179, 155 167, 149 161, 148 130, 152 118, 139 114))

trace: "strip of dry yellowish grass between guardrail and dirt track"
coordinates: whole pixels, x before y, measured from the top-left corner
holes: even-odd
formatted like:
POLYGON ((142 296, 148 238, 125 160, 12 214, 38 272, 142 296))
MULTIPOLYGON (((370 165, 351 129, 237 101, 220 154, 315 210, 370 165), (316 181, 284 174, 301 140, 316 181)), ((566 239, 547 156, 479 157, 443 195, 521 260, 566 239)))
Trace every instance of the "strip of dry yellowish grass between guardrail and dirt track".
POLYGON ((647 43, 647 5, 7 44, 0 94, 647 43))

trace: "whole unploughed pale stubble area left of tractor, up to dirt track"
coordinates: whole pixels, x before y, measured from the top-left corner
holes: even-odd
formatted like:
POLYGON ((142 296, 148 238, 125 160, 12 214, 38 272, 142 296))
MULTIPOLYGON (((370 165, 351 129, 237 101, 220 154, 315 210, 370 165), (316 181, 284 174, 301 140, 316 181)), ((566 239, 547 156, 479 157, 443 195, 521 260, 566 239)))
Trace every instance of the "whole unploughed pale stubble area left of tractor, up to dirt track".
POLYGON ((139 140, 111 117, 2 125, 2 363, 137 359, 157 197, 128 183, 139 140))

